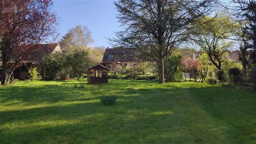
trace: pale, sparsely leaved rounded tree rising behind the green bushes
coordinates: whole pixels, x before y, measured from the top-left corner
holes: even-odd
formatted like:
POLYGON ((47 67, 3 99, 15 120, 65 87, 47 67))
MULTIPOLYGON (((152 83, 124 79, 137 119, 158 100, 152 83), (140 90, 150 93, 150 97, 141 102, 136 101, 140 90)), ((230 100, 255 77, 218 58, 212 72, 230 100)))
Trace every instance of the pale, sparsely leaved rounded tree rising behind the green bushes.
POLYGON ((91 31, 87 26, 77 25, 61 38, 59 44, 63 52, 72 52, 76 49, 88 49, 94 42, 91 31))

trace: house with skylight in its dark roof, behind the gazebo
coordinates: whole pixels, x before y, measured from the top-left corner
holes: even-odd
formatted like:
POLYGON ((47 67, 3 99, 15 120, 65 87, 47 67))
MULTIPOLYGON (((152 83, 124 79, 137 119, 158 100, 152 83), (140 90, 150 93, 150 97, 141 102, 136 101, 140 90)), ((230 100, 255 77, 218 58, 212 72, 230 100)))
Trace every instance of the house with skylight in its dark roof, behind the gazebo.
POLYGON ((131 57, 133 51, 129 48, 123 50, 105 49, 101 64, 110 70, 116 70, 117 66, 122 67, 122 72, 125 72, 125 67, 136 65, 139 61, 131 57))

